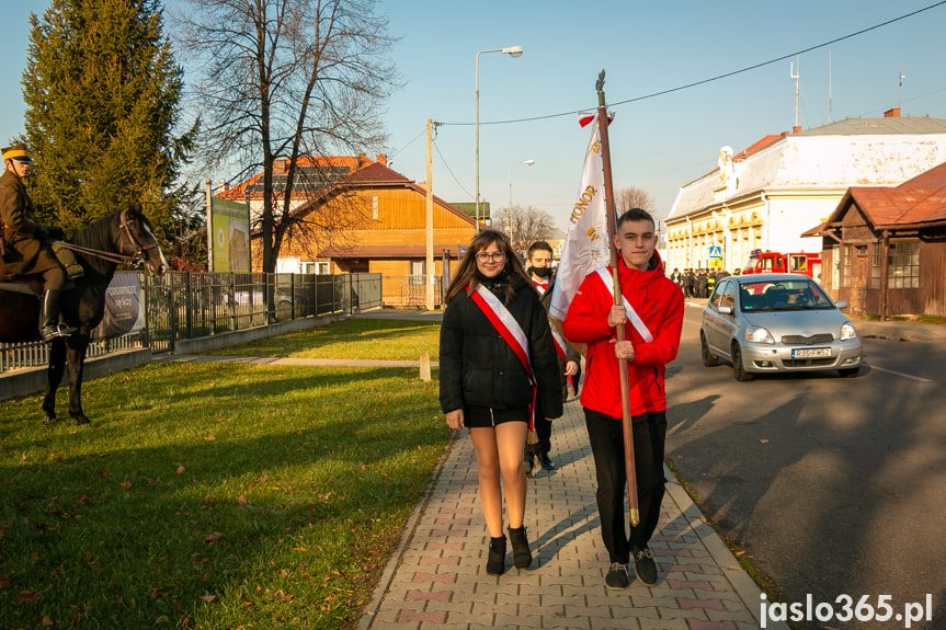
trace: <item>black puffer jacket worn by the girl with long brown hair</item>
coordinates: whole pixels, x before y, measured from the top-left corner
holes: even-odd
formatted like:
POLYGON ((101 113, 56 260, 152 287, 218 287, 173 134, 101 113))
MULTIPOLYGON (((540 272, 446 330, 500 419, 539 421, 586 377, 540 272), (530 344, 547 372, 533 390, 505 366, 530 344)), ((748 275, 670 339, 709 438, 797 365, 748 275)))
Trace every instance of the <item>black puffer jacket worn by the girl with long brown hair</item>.
MULTIPOLYGON (((512 275, 515 291, 505 305, 528 339, 538 402, 547 417, 562 414, 558 355, 545 309, 521 277, 512 275)), ((502 282, 483 280, 502 302, 502 282)), ((477 404, 518 409, 532 403, 532 387, 518 357, 466 293, 453 298, 441 327, 440 400, 444 413, 477 404)))

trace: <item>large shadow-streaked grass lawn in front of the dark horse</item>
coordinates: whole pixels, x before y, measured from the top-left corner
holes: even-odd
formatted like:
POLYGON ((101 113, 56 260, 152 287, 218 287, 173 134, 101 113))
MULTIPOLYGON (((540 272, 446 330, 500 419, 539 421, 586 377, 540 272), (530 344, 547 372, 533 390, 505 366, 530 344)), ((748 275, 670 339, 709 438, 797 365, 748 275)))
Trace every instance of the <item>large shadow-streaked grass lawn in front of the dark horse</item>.
MULTIPOLYGON (((358 334, 287 336, 388 345, 358 334)), ((152 364, 81 429, 0 402, 0 628, 353 627, 449 439, 415 376, 152 364)))

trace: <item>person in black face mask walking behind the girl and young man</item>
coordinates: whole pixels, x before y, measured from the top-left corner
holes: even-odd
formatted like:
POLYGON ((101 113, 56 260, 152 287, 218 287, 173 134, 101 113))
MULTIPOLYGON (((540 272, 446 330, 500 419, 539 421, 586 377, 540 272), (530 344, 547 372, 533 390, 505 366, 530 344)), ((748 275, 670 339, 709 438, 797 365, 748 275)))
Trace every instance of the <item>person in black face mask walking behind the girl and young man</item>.
MULTIPOLYGON (((555 288, 555 274, 551 268, 552 249, 545 241, 538 241, 529 245, 526 255, 526 272, 535 283, 535 287, 542 296, 542 306, 548 312, 551 303, 551 293, 555 288)), ((555 336, 555 333, 552 333, 555 336)), ((561 370, 562 401, 568 398, 568 377, 578 378, 579 362, 581 355, 571 347, 562 337, 557 343, 558 363, 561 370), (565 346, 565 347, 561 347, 565 346), (562 357, 562 353, 565 356, 562 357)), ((534 414, 535 434, 538 438, 536 444, 527 444, 525 447, 525 473, 532 474, 535 460, 545 470, 554 470, 555 462, 548 456, 551 450, 551 422, 546 420, 540 404, 535 405, 534 414)))

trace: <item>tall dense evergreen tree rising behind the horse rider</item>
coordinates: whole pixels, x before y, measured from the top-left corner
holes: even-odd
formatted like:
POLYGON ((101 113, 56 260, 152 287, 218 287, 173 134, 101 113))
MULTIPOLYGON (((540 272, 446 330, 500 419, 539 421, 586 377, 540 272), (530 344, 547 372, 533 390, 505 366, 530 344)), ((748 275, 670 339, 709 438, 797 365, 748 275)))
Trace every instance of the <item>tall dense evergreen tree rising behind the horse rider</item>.
POLYGON ((141 203, 157 231, 170 230, 196 124, 174 136, 183 71, 159 1, 52 0, 31 25, 23 95, 39 220, 73 233, 141 203))

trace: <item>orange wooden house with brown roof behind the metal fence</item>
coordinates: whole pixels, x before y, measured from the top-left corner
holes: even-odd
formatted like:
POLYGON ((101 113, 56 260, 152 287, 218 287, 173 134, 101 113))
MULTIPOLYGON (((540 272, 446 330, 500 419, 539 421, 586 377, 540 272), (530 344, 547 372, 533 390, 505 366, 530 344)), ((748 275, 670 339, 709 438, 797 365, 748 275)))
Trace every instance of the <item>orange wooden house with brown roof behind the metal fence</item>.
MULTIPOLYGON (((386 156, 305 158, 292 213, 299 219, 281 247, 277 271, 293 273, 379 273, 387 286, 407 284, 386 295, 386 303, 414 303, 423 278, 437 282, 445 257, 454 262, 476 234, 474 218, 433 197, 434 268, 426 264, 426 187, 387 167, 386 156), (420 285, 419 287, 417 285, 420 285), (408 296, 408 297, 403 297, 408 296)), ((286 164, 276 169, 274 196, 286 164)), ((260 271, 257 218, 262 208, 262 174, 220 196, 248 198, 254 222, 253 268, 260 271)), ((437 290, 437 296, 440 291, 437 290)), ((438 298, 437 298, 438 299, 438 298)), ((421 298, 422 300, 422 298, 421 298)))

